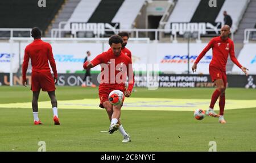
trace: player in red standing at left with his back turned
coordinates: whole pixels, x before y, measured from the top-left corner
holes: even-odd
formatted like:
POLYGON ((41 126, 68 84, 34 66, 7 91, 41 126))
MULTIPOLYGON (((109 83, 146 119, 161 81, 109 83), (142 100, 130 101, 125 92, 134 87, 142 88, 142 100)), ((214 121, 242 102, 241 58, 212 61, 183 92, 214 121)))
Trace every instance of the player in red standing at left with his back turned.
POLYGON ((22 65, 22 84, 26 86, 27 79, 27 67, 28 61, 31 58, 32 74, 31 74, 31 90, 33 92, 32 98, 32 110, 34 115, 34 124, 43 124, 38 118, 38 97, 40 89, 47 91, 52 103, 53 121, 55 125, 59 125, 59 118, 57 114, 57 100, 55 97, 55 83, 57 83, 57 70, 55 60, 52 55, 52 47, 49 43, 41 40, 41 31, 39 28, 34 27, 31 31, 31 36, 34 37, 34 41, 27 45, 24 54, 24 61, 22 65), (51 64, 54 74, 54 80, 52 78, 51 70, 49 68, 51 64))

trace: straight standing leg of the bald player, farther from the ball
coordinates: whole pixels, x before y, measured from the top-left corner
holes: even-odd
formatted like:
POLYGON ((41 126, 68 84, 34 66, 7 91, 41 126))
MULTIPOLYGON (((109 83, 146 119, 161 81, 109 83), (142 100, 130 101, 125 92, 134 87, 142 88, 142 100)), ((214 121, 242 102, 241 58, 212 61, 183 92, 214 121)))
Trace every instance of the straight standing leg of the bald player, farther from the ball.
POLYGON ((220 117, 218 118, 218 121, 220 123, 226 123, 224 119, 224 108, 225 108, 225 90, 226 90, 226 83, 227 83, 227 78, 226 78, 226 73, 222 74, 223 82, 224 82, 224 90, 220 94, 220 101, 218 102, 218 105, 220 106, 220 117))

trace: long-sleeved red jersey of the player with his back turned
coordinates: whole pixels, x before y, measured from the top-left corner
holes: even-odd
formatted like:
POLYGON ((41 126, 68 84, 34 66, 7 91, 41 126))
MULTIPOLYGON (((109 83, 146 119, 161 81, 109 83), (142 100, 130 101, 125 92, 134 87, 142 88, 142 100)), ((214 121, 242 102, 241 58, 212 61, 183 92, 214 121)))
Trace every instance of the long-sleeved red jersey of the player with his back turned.
POLYGON ((52 47, 40 39, 34 40, 31 44, 27 45, 24 54, 24 61, 22 64, 22 78, 26 80, 26 73, 28 61, 31 58, 32 72, 48 73, 51 72, 49 63, 51 64, 54 77, 57 78, 57 70, 55 60, 52 54, 52 47))

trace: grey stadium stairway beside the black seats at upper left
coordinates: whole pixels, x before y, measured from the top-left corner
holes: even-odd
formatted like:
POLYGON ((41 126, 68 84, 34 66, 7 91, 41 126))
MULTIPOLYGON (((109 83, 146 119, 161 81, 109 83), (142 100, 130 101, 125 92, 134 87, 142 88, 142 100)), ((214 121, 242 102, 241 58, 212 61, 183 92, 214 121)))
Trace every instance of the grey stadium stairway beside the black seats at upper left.
POLYGON ((55 15, 55 19, 53 19, 52 23, 48 26, 46 31, 46 37, 51 37, 51 30, 53 28, 59 28, 60 22, 68 21, 80 1, 81 0, 65 0, 58 14, 55 15))

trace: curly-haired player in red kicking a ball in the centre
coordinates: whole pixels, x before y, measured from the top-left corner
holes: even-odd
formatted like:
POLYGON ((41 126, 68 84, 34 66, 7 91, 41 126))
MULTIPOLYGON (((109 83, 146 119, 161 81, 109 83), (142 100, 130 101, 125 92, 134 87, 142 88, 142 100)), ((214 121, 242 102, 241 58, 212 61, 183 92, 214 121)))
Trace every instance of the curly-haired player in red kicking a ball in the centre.
POLYGON ((131 58, 121 52, 122 37, 113 35, 109 39, 111 49, 101 53, 92 61, 84 63, 84 69, 90 69, 98 64, 101 65, 101 81, 98 87, 100 97, 100 107, 105 108, 110 120, 109 133, 114 133, 119 129, 124 139, 122 142, 130 142, 130 136, 125 132, 121 122, 122 105, 112 105, 109 101, 109 94, 113 90, 122 91, 125 97, 130 97, 134 86, 133 66, 131 58), (125 89, 126 77, 129 77, 129 86, 125 89))

